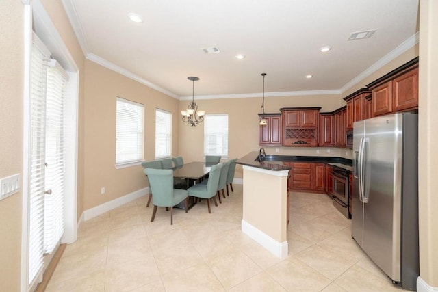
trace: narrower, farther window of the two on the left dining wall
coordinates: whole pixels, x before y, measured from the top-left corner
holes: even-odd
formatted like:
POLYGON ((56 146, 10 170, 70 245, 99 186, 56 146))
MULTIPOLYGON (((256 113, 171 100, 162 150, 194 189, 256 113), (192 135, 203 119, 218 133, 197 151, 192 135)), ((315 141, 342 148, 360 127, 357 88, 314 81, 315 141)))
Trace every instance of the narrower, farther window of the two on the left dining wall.
POLYGON ((155 110, 155 158, 172 156, 172 114, 155 110))

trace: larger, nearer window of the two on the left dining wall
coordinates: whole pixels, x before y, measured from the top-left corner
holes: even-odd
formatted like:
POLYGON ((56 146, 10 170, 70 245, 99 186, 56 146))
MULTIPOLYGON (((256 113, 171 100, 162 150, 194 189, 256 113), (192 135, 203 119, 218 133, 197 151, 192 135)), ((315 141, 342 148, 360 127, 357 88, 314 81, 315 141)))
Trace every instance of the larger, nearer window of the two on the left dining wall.
POLYGON ((144 109, 140 103, 117 98, 116 166, 143 160, 144 109))

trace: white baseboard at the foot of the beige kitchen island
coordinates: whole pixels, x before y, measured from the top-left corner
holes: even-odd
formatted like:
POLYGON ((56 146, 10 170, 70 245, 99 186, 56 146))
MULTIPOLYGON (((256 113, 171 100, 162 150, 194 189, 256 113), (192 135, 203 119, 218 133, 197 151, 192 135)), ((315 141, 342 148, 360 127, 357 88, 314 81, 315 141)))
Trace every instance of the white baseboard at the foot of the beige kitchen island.
POLYGON ((279 242, 263 233, 259 229, 255 228, 253 225, 249 224, 242 219, 242 232, 257 241, 263 248, 270 251, 274 256, 285 259, 287 258, 288 243, 287 241, 279 242))

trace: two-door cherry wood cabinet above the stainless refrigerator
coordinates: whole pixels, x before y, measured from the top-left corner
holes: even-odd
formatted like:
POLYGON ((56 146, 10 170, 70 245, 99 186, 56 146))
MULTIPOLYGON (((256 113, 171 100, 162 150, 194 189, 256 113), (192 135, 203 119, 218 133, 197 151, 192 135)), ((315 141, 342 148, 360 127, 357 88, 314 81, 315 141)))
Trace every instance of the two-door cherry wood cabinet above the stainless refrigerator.
POLYGON ((372 115, 418 108, 418 57, 367 85, 372 90, 372 115))

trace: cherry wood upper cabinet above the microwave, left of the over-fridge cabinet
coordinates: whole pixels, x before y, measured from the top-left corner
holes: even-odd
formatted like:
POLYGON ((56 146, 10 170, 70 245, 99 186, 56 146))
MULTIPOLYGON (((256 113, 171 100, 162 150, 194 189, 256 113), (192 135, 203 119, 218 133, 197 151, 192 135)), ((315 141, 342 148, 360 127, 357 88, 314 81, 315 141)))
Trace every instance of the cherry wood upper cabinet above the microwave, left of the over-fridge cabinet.
POLYGON ((365 120, 365 109, 368 101, 365 96, 370 95, 371 90, 368 88, 361 88, 356 92, 353 92, 349 96, 344 98, 344 101, 347 102, 347 121, 346 121, 346 129, 353 129, 353 123, 359 120, 365 120))

